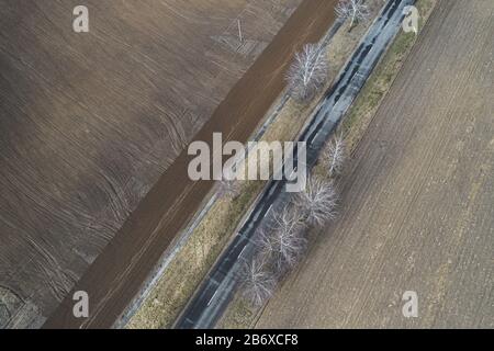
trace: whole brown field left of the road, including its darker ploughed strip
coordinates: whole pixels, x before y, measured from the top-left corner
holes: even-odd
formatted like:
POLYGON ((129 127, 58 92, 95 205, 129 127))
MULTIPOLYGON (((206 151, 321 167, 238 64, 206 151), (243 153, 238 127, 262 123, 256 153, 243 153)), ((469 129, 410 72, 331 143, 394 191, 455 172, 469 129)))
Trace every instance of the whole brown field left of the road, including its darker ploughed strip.
POLYGON ((334 18, 324 0, 88 0, 77 34, 76 4, 0 0, 0 327, 111 326, 211 189, 187 144, 245 141, 334 18))

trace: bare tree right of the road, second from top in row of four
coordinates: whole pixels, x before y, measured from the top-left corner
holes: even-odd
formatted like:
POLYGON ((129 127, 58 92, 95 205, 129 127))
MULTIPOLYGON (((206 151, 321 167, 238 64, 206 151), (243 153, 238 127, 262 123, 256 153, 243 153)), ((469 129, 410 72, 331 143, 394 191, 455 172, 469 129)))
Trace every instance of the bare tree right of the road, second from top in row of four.
POLYGON ((296 205, 302 210, 310 225, 324 226, 336 217, 337 200, 330 181, 310 177, 305 191, 297 194, 296 205))

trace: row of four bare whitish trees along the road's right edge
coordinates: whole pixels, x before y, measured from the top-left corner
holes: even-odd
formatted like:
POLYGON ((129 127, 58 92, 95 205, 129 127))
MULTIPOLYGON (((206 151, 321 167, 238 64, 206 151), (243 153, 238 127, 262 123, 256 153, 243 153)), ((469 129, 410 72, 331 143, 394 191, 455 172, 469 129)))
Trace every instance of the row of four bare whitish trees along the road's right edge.
POLYGON ((335 137, 322 157, 327 177, 308 177, 305 191, 273 206, 265 219, 254 240, 256 253, 240 270, 243 295, 254 306, 266 303, 277 283, 301 261, 308 246, 308 229, 323 228, 336 218, 334 183, 345 159, 344 138, 335 137))

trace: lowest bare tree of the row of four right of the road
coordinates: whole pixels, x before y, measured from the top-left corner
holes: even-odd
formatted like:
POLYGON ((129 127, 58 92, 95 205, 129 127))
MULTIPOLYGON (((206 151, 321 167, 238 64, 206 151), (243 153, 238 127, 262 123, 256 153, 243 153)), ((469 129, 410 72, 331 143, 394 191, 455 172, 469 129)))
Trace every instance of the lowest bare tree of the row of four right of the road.
POLYGON ((254 306, 262 306, 272 296, 277 286, 277 280, 261 256, 256 256, 244 263, 240 282, 244 297, 254 306))

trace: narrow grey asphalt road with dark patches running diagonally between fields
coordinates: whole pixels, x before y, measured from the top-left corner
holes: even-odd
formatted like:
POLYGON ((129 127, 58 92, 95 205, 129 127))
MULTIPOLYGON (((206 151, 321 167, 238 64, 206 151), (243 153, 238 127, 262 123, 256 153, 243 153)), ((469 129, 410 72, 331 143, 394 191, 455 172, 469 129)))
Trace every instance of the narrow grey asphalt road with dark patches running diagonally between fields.
MULTIPOLYGON (((308 167, 312 167, 317 160, 321 148, 351 105, 388 44, 397 33, 404 7, 413 2, 412 0, 392 0, 383 7, 337 82, 316 109, 311 124, 299 139, 306 141, 308 167)), ((296 165, 296 149, 294 160, 296 165)), ((233 296, 236 273, 242 263, 240 259, 247 258, 251 253, 250 239, 276 201, 283 196, 284 185, 284 181, 271 181, 267 185, 239 233, 222 253, 207 279, 182 313, 176 328, 214 327, 233 296)))

